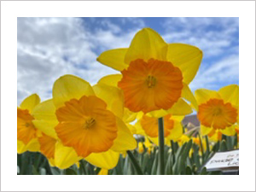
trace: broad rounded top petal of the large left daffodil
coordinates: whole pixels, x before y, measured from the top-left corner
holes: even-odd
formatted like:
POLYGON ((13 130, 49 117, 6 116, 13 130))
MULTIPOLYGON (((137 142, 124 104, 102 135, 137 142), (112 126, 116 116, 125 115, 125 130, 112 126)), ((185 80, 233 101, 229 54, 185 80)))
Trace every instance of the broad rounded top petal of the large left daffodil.
POLYGON ((64 75, 57 79, 53 86, 52 94, 55 108, 64 106, 64 103, 71 99, 95 95, 87 81, 73 75, 64 75))

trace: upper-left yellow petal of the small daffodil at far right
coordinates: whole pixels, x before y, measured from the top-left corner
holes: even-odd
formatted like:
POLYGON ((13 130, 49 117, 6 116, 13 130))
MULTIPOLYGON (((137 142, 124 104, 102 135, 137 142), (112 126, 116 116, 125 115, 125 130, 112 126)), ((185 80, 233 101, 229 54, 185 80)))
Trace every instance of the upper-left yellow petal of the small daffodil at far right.
POLYGON ((210 99, 221 99, 216 90, 199 89, 195 90, 195 100, 198 105, 205 103, 210 99))

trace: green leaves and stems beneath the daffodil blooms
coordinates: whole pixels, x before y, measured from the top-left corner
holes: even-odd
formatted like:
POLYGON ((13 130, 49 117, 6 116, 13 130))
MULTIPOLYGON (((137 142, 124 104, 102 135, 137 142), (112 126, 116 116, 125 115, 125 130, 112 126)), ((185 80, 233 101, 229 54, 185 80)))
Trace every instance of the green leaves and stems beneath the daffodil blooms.
MULTIPOLYGON (((171 142, 171 147, 165 146, 165 174, 166 175, 219 175, 221 172, 207 172, 204 164, 215 152, 226 151, 237 148, 237 137, 223 137, 218 143, 210 143, 207 137, 200 139, 200 145, 192 142, 178 143, 171 142), (205 140, 206 148, 202 150, 202 140, 205 140)), ((18 175, 97 175, 101 168, 92 166, 85 160, 79 161, 79 167, 73 165, 65 170, 49 166, 48 160, 40 153, 26 152, 17 154, 18 175)), ((125 157, 120 154, 119 162, 109 175, 158 175, 159 148, 155 147, 148 153, 144 147, 143 153, 137 150, 128 152, 125 157)))

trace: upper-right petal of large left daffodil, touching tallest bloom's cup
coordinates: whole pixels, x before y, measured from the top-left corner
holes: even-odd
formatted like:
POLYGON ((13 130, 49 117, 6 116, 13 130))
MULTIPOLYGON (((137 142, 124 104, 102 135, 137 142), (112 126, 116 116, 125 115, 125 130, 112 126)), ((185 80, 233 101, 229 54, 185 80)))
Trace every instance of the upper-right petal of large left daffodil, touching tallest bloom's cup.
POLYGON ((107 103, 107 109, 112 111, 117 117, 123 118, 124 114, 124 95, 116 87, 105 84, 96 84, 93 90, 97 97, 107 103))

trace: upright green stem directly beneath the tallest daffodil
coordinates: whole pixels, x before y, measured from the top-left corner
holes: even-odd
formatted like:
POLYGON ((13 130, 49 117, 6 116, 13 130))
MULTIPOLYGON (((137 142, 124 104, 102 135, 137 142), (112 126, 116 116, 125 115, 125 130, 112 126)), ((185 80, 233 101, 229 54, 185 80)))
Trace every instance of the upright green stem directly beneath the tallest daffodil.
POLYGON ((163 118, 158 119, 158 138, 159 138, 159 163, 160 163, 160 175, 165 174, 165 137, 164 137, 164 122, 163 118))

